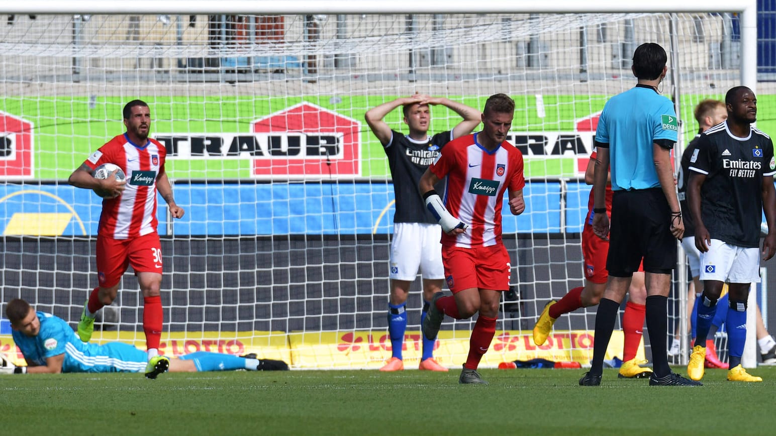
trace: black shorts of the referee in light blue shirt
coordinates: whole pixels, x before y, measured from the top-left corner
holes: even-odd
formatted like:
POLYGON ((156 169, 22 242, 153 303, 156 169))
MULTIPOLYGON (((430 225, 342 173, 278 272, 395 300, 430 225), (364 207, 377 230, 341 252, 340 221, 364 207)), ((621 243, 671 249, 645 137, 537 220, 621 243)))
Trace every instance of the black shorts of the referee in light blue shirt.
POLYGON ((670 231, 671 213, 663 189, 615 191, 606 269, 614 277, 639 271, 670 274, 677 265, 677 243, 670 231))

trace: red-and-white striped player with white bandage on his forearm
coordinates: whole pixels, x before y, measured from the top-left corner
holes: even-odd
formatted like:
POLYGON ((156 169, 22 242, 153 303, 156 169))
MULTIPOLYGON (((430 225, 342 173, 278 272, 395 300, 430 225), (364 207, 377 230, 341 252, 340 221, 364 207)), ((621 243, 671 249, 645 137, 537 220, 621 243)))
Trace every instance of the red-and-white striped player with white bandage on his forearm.
POLYGON ((481 132, 452 140, 420 182, 428 209, 442 225, 442 263, 452 296, 435 294, 422 324, 426 339, 437 336, 445 315, 464 320, 480 313, 469 339, 459 383, 483 383, 476 371, 496 331, 501 292, 509 289, 511 262, 501 241, 501 205, 519 215, 523 199, 523 156, 506 141, 514 116, 508 95, 485 102, 481 132), (447 177, 445 202, 434 185, 447 177))

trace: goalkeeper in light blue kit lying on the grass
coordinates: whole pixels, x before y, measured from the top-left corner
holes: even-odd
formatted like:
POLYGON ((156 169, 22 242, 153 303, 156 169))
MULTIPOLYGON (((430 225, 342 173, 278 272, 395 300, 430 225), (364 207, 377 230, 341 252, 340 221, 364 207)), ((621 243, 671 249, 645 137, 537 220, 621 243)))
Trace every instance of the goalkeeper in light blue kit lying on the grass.
MULTIPOLYGON (((145 372, 147 355, 132 345, 122 342, 87 344, 75 335, 73 329, 60 317, 36 312, 23 299, 12 299, 5 306, 5 315, 11 321, 13 341, 22 351, 27 366, 15 366, 0 355, 0 374, 60 372, 145 372)), ((274 371, 289 369, 280 360, 258 359, 251 353, 237 357, 221 353, 197 351, 179 358, 158 356, 153 372, 146 377, 155 379, 165 371, 274 371)))

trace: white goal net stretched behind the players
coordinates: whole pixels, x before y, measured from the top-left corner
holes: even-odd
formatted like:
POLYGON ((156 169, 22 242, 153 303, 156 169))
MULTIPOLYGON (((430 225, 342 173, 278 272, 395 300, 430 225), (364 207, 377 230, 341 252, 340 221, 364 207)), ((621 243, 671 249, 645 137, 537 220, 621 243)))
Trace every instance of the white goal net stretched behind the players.
MULTIPOLYGON (((394 196, 365 112, 415 92, 481 109, 504 92, 517 105, 508 140, 525 157, 527 208, 504 215, 512 287, 483 365, 586 364, 594 308, 559 319, 541 348, 530 330, 545 303, 584 284, 583 175, 597 114, 635 84, 633 50, 660 43, 670 68, 660 91, 676 103, 684 146, 695 105, 741 83, 739 29, 729 13, 0 16, 0 297, 78 322, 97 285, 100 199, 67 179, 124 131, 121 109, 139 98, 186 211, 172 220, 159 199, 165 353, 378 368, 391 354, 394 196)), ((431 112, 431 133, 460 121, 443 106, 431 112)), ((407 133, 400 110, 385 120, 407 133)), ((677 282, 670 336, 683 293, 677 282)), ((130 269, 96 340, 143 347, 142 302, 130 269)), ((422 304, 418 280, 407 367, 420 357, 422 304)), ((445 320, 439 362, 466 359, 472 327, 445 320)), ((610 351, 622 358, 622 335, 610 351)))

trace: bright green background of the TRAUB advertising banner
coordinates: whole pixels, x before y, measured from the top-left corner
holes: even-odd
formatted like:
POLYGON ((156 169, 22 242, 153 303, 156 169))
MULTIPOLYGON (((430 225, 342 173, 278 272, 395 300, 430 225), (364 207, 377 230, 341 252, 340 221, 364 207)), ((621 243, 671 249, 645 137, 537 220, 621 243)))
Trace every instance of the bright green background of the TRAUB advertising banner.
MULTIPOLYGON (((514 132, 570 131, 573 121, 603 109, 604 95, 544 95, 545 115, 540 118, 534 95, 513 95, 516 102, 514 132)), ((154 119, 152 133, 250 133, 255 119, 268 116, 303 101, 301 98, 268 96, 142 96, 151 106, 154 119)), ((395 99, 394 95, 320 95, 307 96, 304 101, 331 109, 361 123, 362 175, 385 178, 389 176, 388 163, 383 148, 369 131, 364 121, 365 112, 379 104, 395 99)), ((487 96, 456 97, 451 99, 469 106, 482 108, 487 96)), ((697 129, 692 119, 691 105, 700 98, 685 96, 688 104, 681 116, 687 140, 697 129)), ((121 109, 126 99, 119 97, 54 98, 6 96, 0 110, 22 116, 34 125, 36 150, 36 178, 64 179, 78 167, 92 151, 111 137, 124 130, 121 109)), ((770 117, 776 108, 776 95, 758 95, 760 107, 757 126, 766 133, 776 134, 776 117, 770 117)), ((433 125, 431 133, 449 130, 459 123, 459 116, 443 106, 431 109, 433 125)), ((386 122, 394 129, 407 133, 402 122, 401 110, 386 116, 386 122)), ((172 178, 249 178, 251 164, 248 160, 192 160, 170 161, 168 172, 172 178)), ((573 160, 527 160, 528 176, 576 174, 573 160)))

